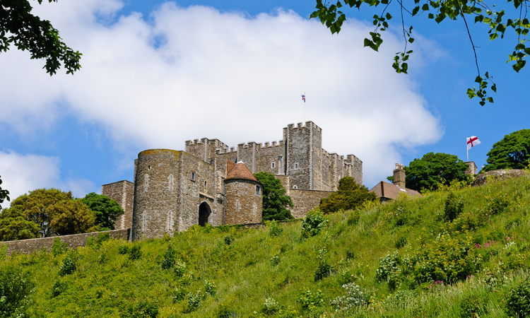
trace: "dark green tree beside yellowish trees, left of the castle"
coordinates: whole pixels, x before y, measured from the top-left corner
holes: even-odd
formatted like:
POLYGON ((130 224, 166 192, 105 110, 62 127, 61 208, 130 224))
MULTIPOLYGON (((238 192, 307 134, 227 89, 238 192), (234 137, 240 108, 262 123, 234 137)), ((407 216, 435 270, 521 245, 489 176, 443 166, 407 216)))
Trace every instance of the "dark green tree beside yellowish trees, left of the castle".
POLYGON ((114 230, 114 222, 125 213, 116 201, 94 192, 87 194, 81 202, 95 214, 95 223, 102 226, 101 230, 114 230))

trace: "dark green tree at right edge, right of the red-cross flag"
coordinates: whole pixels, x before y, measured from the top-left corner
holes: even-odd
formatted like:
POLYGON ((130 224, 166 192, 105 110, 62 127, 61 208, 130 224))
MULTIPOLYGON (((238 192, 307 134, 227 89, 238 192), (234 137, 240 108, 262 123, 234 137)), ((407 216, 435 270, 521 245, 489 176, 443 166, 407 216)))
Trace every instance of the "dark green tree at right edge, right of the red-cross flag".
POLYGON ((497 141, 486 162, 484 171, 527 167, 530 164, 530 129, 514 131, 497 141))

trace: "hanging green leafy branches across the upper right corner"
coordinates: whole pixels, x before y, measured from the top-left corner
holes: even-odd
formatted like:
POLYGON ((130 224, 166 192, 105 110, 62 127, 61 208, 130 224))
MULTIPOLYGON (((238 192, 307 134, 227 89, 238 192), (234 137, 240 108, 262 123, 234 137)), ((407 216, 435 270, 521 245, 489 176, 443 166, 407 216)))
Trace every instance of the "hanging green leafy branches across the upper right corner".
MULTIPOLYGON (((512 0, 507 0, 507 4, 510 4, 510 2, 512 2, 512 0)), ((383 42, 380 32, 386 31, 389 28, 389 20, 393 18, 388 12, 391 3, 392 0, 334 0, 331 2, 324 1, 324 3, 322 0, 317 0, 317 10, 311 14, 311 18, 319 18, 322 24, 325 24, 326 27, 331 30, 331 33, 334 34, 341 31, 341 26, 346 20, 346 14, 339 10, 343 4, 350 6, 350 8, 358 8, 359 10, 360 6, 363 4, 375 6, 376 8, 382 6, 383 8, 380 15, 375 14, 375 16, 373 16, 375 30, 370 32, 370 38, 365 38, 364 40, 365 47, 370 47, 377 52, 379 46, 383 42)), ((412 50, 407 50, 407 45, 408 43, 414 42, 414 38, 412 37, 412 25, 410 28, 405 26, 405 16, 427 16, 427 18, 435 20, 436 23, 441 23, 445 18, 449 18, 450 20, 461 18, 464 21, 464 25, 469 35, 469 42, 473 49, 473 54, 475 55, 477 69, 475 82, 477 83, 478 88, 468 88, 467 95, 469 98, 478 97, 481 100, 479 103, 482 106, 485 105, 486 100, 488 102, 493 102, 493 98, 488 96, 488 85, 491 85, 489 89, 493 92, 496 92, 497 88, 495 83, 493 83, 493 77, 490 76, 488 72, 481 75, 475 51, 476 46, 473 44, 468 19, 473 18, 474 23, 485 23, 488 25, 490 27, 488 32, 490 40, 495 40, 499 36, 500 38, 503 38, 507 28, 513 29, 514 33, 517 35, 517 42, 514 45, 514 51, 508 56, 508 61, 514 62, 512 68, 514 71, 519 72, 524 67, 524 64, 526 64, 524 57, 530 54, 530 47, 524 45, 524 42, 526 42, 526 35, 530 30, 530 23, 529 19, 526 18, 526 8, 528 7, 527 1, 514 0, 512 4, 518 14, 517 16, 507 17, 504 10, 495 11, 495 4, 490 7, 482 0, 414 0, 414 3, 411 3, 411 6, 409 7, 410 10, 405 6, 403 1, 397 1, 396 6, 398 6, 398 10, 401 13, 400 20, 404 37, 404 50, 403 52, 396 53, 392 67, 397 73, 407 73, 408 70, 408 64, 406 61, 408 61, 409 54, 412 53, 412 50), (425 13, 425 15, 422 13, 425 13)), ((469 22, 471 23, 471 21, 469 22)))

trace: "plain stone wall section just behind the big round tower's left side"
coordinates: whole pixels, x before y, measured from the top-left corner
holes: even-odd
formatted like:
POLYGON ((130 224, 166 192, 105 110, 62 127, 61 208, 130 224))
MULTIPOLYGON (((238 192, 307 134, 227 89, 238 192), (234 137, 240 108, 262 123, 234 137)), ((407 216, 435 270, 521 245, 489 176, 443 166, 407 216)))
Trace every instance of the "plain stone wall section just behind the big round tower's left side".
POLYGON ((131 228, 134 203, 134 183, 123 180, 101 186, 101 194, 117 201, 124 209, 124 214, 114 222, 115 230, 131 228))

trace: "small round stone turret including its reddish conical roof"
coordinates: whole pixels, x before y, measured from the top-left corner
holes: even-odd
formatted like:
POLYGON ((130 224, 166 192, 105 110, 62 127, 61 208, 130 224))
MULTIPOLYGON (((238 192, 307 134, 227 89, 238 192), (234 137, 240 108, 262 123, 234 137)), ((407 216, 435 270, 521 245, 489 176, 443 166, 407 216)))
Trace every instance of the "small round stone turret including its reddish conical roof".
POLYGON ((263 185, 241 161, 225 179, 225 225, 261 223, 263 185))

